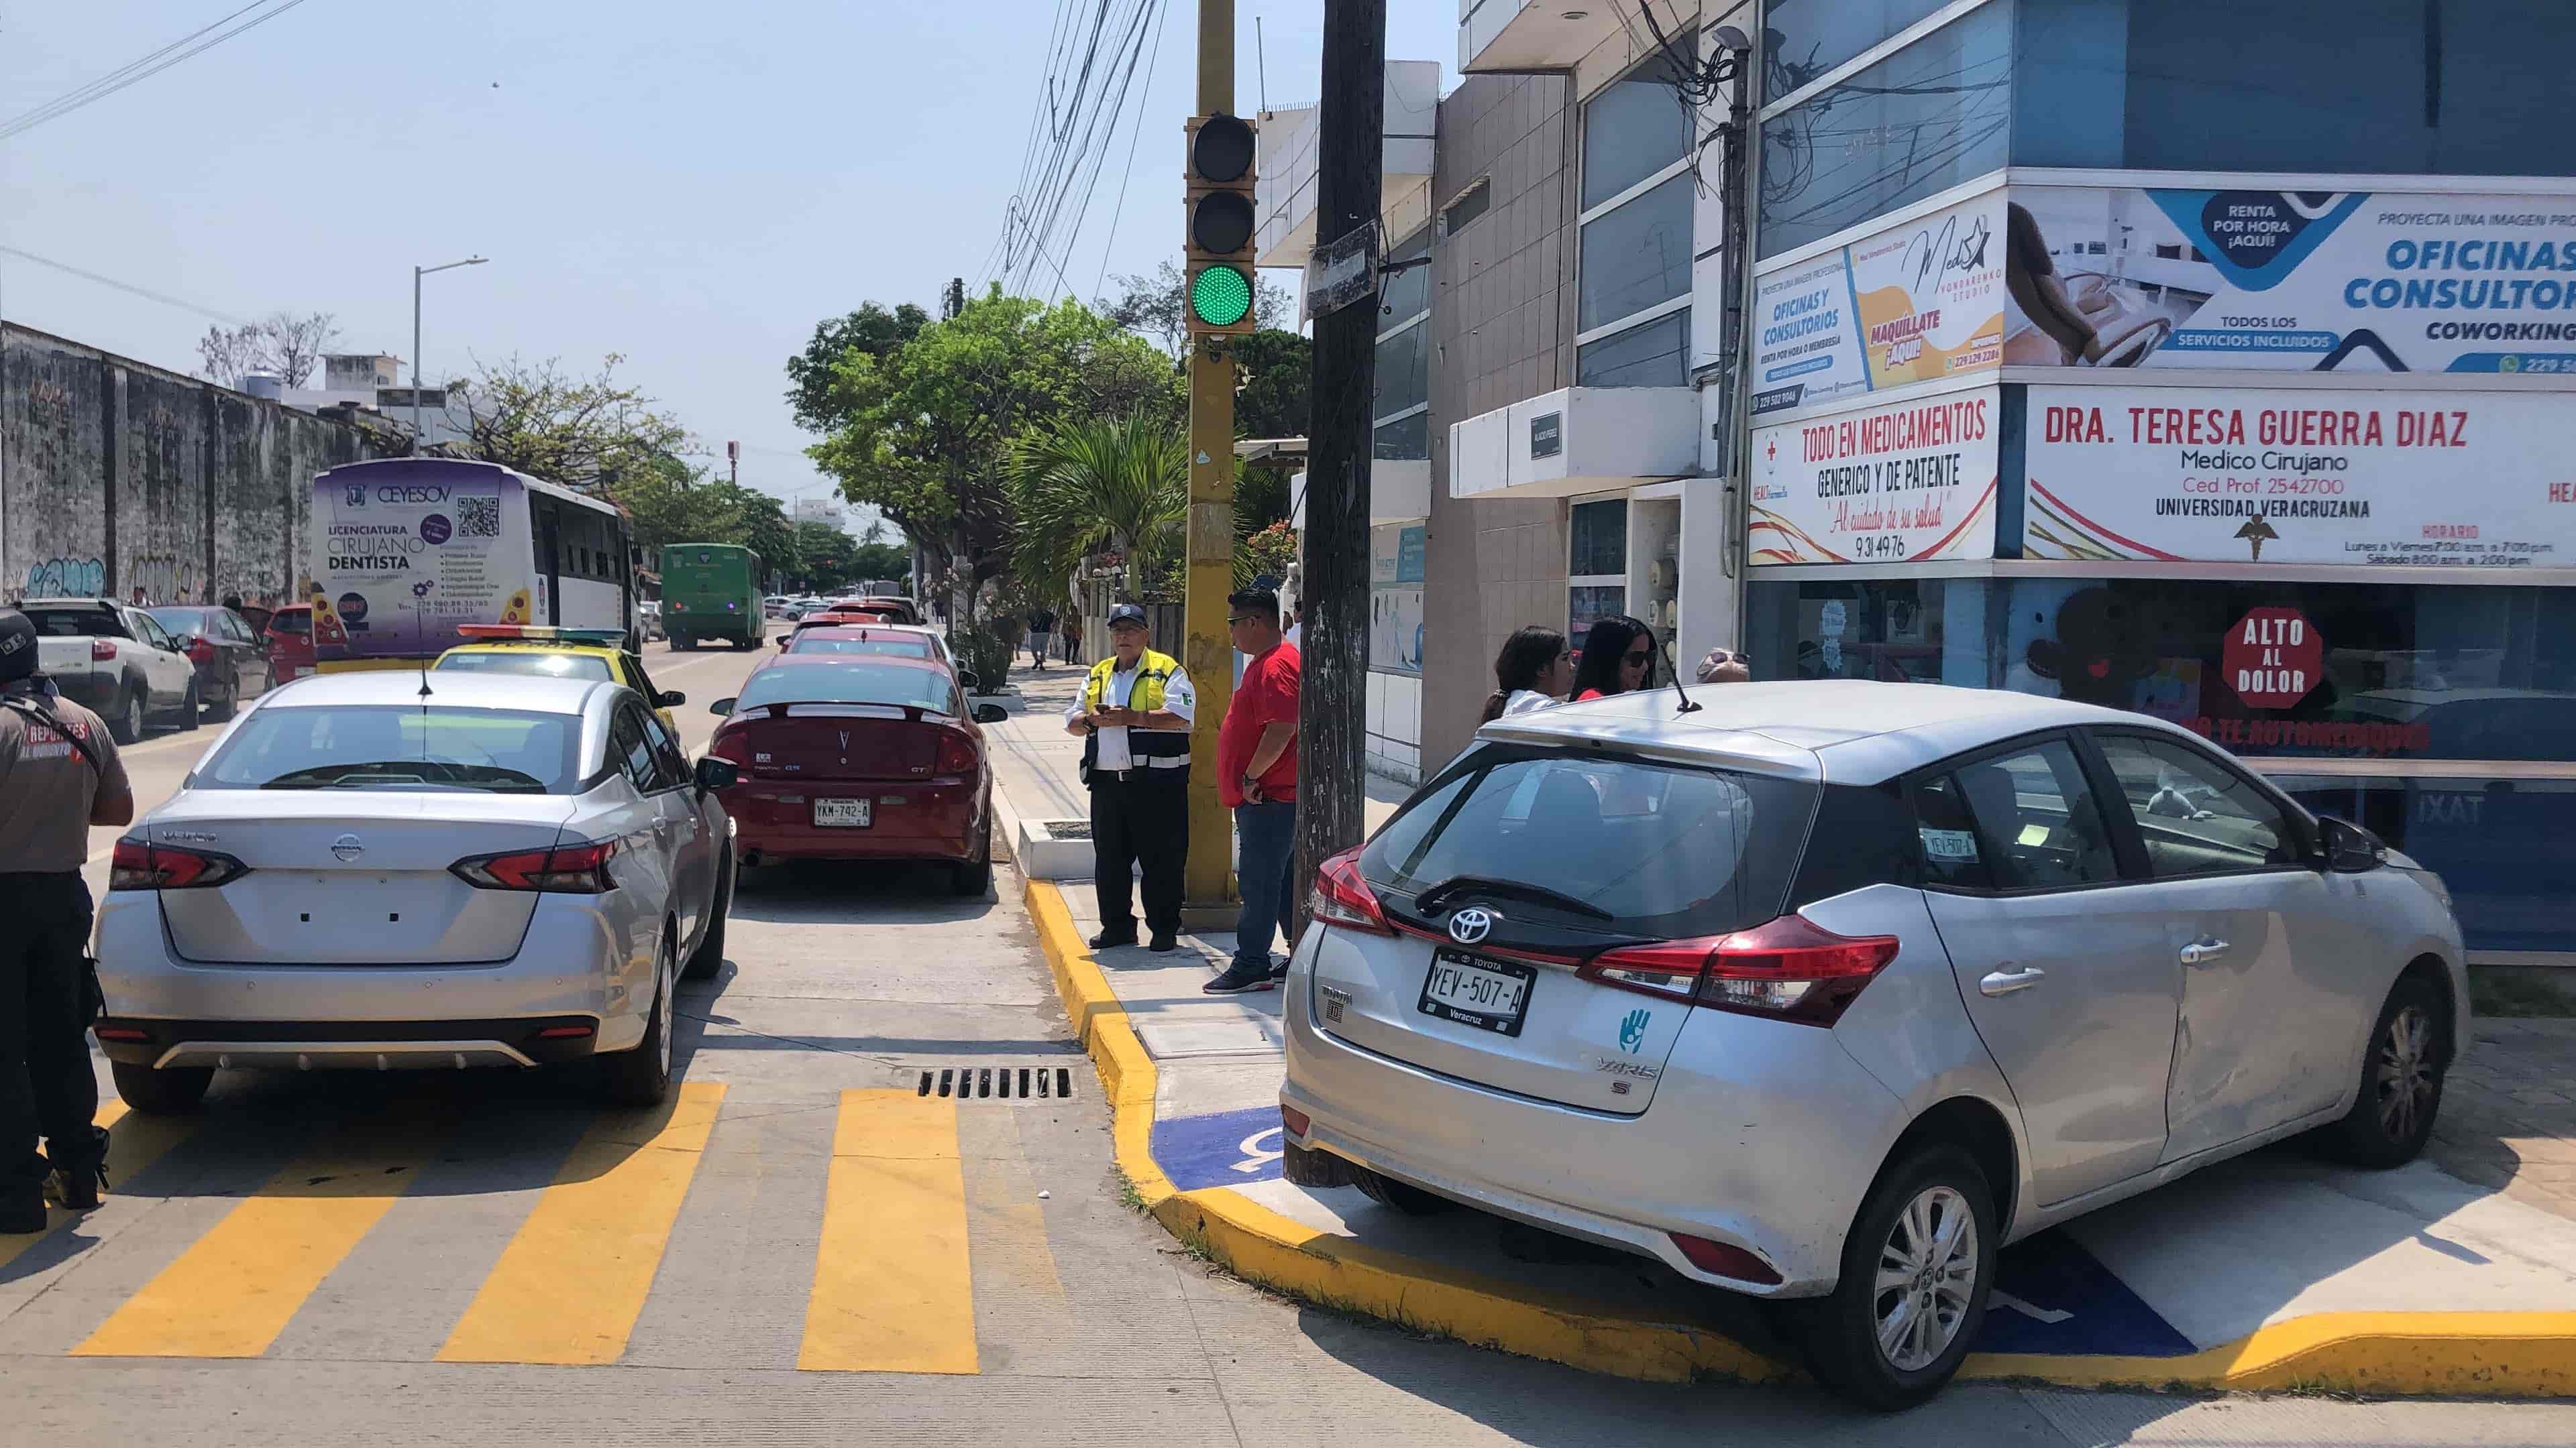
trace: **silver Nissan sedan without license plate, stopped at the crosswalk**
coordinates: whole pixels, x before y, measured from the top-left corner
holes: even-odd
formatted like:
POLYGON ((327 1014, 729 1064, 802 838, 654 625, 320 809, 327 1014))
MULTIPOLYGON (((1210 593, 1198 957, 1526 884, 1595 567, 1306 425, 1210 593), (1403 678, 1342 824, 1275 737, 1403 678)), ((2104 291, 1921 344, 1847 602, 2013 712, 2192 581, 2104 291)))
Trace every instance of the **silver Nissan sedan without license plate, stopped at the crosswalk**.
POLYGON ((216 1067, 590 1064, 670 1090, 672 987, 724 961, 732 822, 616 683, 319 675, 263 696, 116 843, 98 1046, 134 1110, 216 1067))

